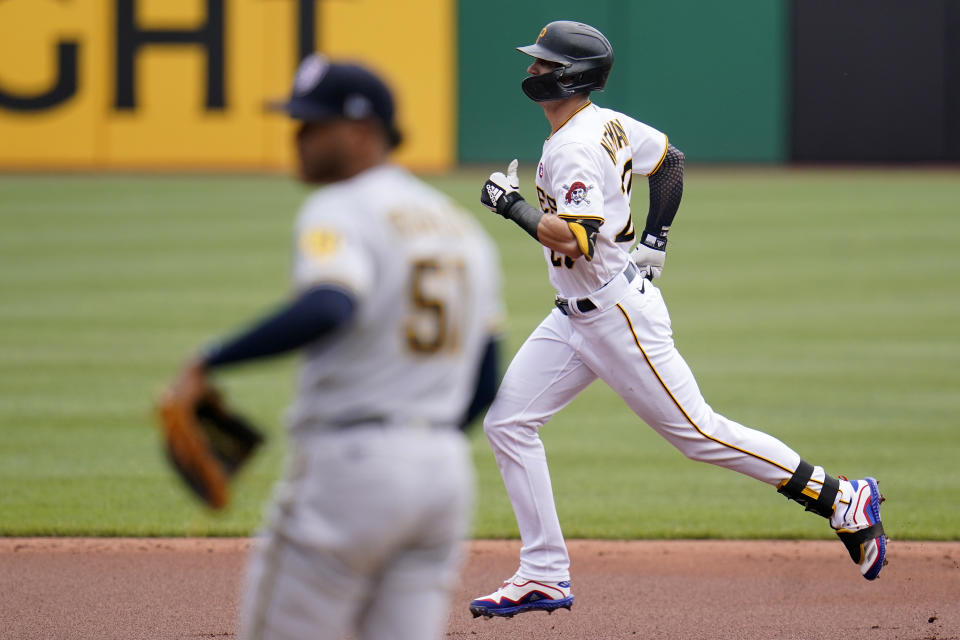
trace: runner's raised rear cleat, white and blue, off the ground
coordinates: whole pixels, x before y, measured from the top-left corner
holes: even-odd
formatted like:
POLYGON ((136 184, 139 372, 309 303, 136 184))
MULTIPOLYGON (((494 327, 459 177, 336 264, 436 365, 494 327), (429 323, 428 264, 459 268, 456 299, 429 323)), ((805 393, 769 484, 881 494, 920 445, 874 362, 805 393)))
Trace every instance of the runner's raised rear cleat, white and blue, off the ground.
POLYGON ((874 580, 887 564, 887 537, 880 522, 880 495, 873 478, 847 480, 840 478, 840 501, 836 505, 830 526, 860 566, 867 580, 874 580))

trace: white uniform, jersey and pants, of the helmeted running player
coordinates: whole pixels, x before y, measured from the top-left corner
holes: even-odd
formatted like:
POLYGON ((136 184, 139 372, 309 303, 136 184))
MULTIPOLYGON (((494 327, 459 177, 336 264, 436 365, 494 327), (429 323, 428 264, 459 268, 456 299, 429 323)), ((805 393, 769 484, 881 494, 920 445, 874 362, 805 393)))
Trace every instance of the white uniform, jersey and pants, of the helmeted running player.
MULTIPOLYGON (((656 171, 666 151, 661 132, 592 103, 543 145, 536 176, 540 209, 601 226, 591 260, 545 248, 550 282, 566 314, 554 309, 527 338, 484 421, 517 517, 519 574, 526 578, 570 578, 539 429, 597 378, 693 460, 771 485, 789 479, 800 461, 776 438, 710 408, 674 346, 660 290, 637 276, 630 262, 632 176, 656 171)), ((823 478, 816 467, 808 483, 814 495, 823 478)))

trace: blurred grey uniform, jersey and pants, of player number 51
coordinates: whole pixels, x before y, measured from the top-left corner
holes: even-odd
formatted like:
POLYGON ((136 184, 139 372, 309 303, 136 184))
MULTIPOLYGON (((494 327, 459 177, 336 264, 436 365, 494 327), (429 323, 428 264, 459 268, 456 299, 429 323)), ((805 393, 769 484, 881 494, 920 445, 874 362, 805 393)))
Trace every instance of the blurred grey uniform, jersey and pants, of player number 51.
POLYGON ((294 253, 297 289, 357 308, 306 350, 241 637, 439 638, 472 507, 458 427, 503 313, 495 247, 381 165, 306 201, 294 253))

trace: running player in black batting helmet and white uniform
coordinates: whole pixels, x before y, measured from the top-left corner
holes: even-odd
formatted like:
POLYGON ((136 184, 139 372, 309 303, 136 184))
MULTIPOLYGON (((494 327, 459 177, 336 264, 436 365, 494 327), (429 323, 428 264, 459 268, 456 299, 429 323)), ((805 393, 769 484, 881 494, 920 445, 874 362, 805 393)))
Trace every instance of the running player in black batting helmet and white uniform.
POLYGON ((653 280, 680 205, 684 156, 663 133, 590 100, 613 65, 610 43, 593 27, 558 21, 519 51, 534 58, 523 91, 551 127, 537 165, 537 206, 518 192, 516 160, 490 176, 481 202, 543 245, 557 298, 484 420, 523 544, 516 574, 472 601, 474 616, 573 604, 539 429, 597 378, 690 459, 770 484, 829 519, 863 576, 876 578, 886 549, 876 481, 827 475, 776 438, 713 411, 674 346, 653 280), (631 254, 634 174, 649 180, 650 208, 631 254))

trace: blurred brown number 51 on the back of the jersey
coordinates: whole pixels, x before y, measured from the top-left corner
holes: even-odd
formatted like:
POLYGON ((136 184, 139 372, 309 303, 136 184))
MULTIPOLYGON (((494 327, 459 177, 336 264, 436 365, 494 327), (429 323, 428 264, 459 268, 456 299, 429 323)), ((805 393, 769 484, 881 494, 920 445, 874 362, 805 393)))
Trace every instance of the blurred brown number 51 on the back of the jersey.
POLYGON ((417 260, 410 283, 407 346, 417 353, 454 351, 460 344, 459 327, 465 320, 467 287, 463 262, 417 260))

